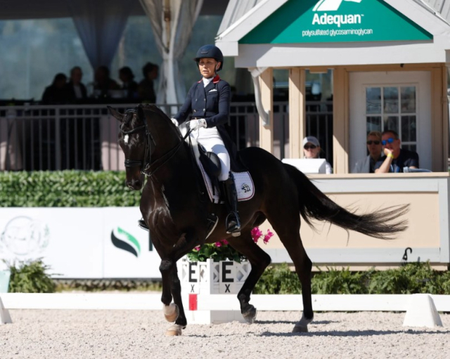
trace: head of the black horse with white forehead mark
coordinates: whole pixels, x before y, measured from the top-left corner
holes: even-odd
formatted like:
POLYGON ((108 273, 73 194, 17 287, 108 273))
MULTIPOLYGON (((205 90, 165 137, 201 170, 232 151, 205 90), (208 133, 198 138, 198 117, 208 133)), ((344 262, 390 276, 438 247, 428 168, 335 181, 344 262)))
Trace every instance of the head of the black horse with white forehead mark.
POLYGON ((142 173, 146 161, 150 159, 152 143, 148 143, 148 129, 145 117, 138 115, 140 107, 127 110, 121 114, 113 107, 108 106, 110 114, 120 121, 119 145, 125 155, 125 171, 127 173, 127 186, 132 190, 140 190, 144 182, 142 173))

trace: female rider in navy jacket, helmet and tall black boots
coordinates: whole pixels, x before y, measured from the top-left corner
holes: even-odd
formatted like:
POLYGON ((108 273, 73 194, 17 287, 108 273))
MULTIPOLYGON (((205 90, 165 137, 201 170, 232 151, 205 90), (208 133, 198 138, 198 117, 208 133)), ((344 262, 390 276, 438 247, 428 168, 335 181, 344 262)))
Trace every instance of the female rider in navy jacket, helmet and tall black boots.
MULTIPOLYGON (((186 121, 193 136, 208 152, 214 152, 220 159, 221 174, 219 181, 229 215, 226 217, 226 233, 240 233, 238 215, 238 197, 234 177, 231 173, 230 155, 236 152, 224 124, 229 119, 230 85, 217 74, 224 65, 224 56, 214 45, 205 45, 198 49, 194 58, 198 70, 203 76, 193 84, 180 111, 172 118, 176 126, 186 121)), ((233 159, 233 157, 232 157, 233 159)))

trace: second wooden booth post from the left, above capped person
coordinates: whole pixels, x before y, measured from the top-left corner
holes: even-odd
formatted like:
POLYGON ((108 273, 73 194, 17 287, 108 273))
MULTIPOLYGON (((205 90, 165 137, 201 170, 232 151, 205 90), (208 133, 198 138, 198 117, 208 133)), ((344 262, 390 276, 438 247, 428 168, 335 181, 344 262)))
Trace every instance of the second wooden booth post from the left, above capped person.
POLYGON ((302 141, 306 136, 306 108, 303 69, 294 67, 289 71, 289 157, 302 158, 302 141))

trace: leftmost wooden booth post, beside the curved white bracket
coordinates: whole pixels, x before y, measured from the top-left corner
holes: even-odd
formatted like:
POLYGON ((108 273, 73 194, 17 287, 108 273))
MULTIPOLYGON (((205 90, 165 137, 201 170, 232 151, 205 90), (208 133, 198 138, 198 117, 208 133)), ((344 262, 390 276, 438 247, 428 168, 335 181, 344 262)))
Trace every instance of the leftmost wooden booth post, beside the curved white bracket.
POLYGON ((259 75, 261 101, 264 110, 269 111, 269 124, 264 126, 259 117, 259 147, 274 153, 274 74, 271 68, 259 75))

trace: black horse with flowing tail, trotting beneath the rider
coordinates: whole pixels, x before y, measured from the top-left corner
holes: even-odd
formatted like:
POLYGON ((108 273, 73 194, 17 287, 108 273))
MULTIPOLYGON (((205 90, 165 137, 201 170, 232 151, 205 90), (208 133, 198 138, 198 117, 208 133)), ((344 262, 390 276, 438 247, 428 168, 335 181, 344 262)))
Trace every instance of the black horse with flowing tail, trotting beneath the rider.
POLYGON ((119 143, 125 155, 128 187, 141 190, 144 174, 148 176, 140 207, 161 257, 163 311, 166 319, 174 322, 167 335, 180 335, 187 325, 176 261, 198 245, 226 239, 248 258, 252 269, 238 300, 243 317, 253 322, 257 311, 249 303, 250 293, 271 259, 253 242, 250 231, 267 219, 287 249, 302 284, 304 310, 293 332, 307 332, 314 316, 312 263, 300 239, 300 214, 309 225, 311 219, 328 221, 380 239, 389 239, 406 229, 405 221, 398 218, 406 213, 407 205, 354 214, 330 200, 295 167, 283 164, 261 148, 245 148, 238 155, 250 171, 255 195, 239 203, 240 237, 227 235, 224 221, 228 212, 223 204, 212 204, 205 195, 191 149, 169 117, 154 105, 138 105, 123 115, 109 109, 121 122, 119 143), (207 237, 207 218, 212 213, 217 214, 219 222, 207 237))

